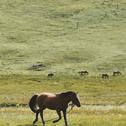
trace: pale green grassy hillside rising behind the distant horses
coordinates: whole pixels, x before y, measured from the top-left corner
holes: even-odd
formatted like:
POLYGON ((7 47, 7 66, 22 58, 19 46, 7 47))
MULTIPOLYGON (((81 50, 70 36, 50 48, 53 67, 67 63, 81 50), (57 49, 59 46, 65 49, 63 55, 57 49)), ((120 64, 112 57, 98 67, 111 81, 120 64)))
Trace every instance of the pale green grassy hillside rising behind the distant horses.
POLYGON ((0 0, 0 73, 125 73, 125 8, 125 0, 0 0), (29 70, 39 63, 46 67, 29 70))

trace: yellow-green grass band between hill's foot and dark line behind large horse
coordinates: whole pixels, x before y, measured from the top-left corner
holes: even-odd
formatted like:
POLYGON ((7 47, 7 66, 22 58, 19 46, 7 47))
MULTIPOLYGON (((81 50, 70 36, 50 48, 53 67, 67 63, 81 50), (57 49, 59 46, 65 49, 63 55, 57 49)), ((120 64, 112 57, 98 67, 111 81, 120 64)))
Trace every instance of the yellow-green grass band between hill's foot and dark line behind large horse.
POLYGON ((83 105, 125 105, 126 78, 111 77, 66 77, 55 76, 52 79, 39 75, 8 75, 0 78, 1 103, 27 104, 34 93, 62 92, 73 90, 79 92, 83 105))

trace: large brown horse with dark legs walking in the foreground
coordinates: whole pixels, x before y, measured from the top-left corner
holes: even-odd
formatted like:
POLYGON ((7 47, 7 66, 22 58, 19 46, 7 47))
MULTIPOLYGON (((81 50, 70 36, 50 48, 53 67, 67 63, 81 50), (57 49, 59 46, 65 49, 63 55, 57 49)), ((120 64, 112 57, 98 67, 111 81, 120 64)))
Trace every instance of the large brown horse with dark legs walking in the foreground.
POLYGON ((57 120, 54 120, 53 123, 58 122, 62 118, 62 111, 65 125, 67 126, 66 110, 68 108, 69 102, 72 102, 72 104, 76 105, 77 107, 81 106, 77 94, 73 91, 68 91, 60 94, 41 93, 33 95, 29 101, 30 109, 36 114, 36 118, 33 121, 33 124, 35 124, 38 121, 38 114, 40 113, 42 123, 43 125, 45 125, 45 121, 43 118, 43 110, 48 108, 56 110, 59 116, 59 118, 57 120))

